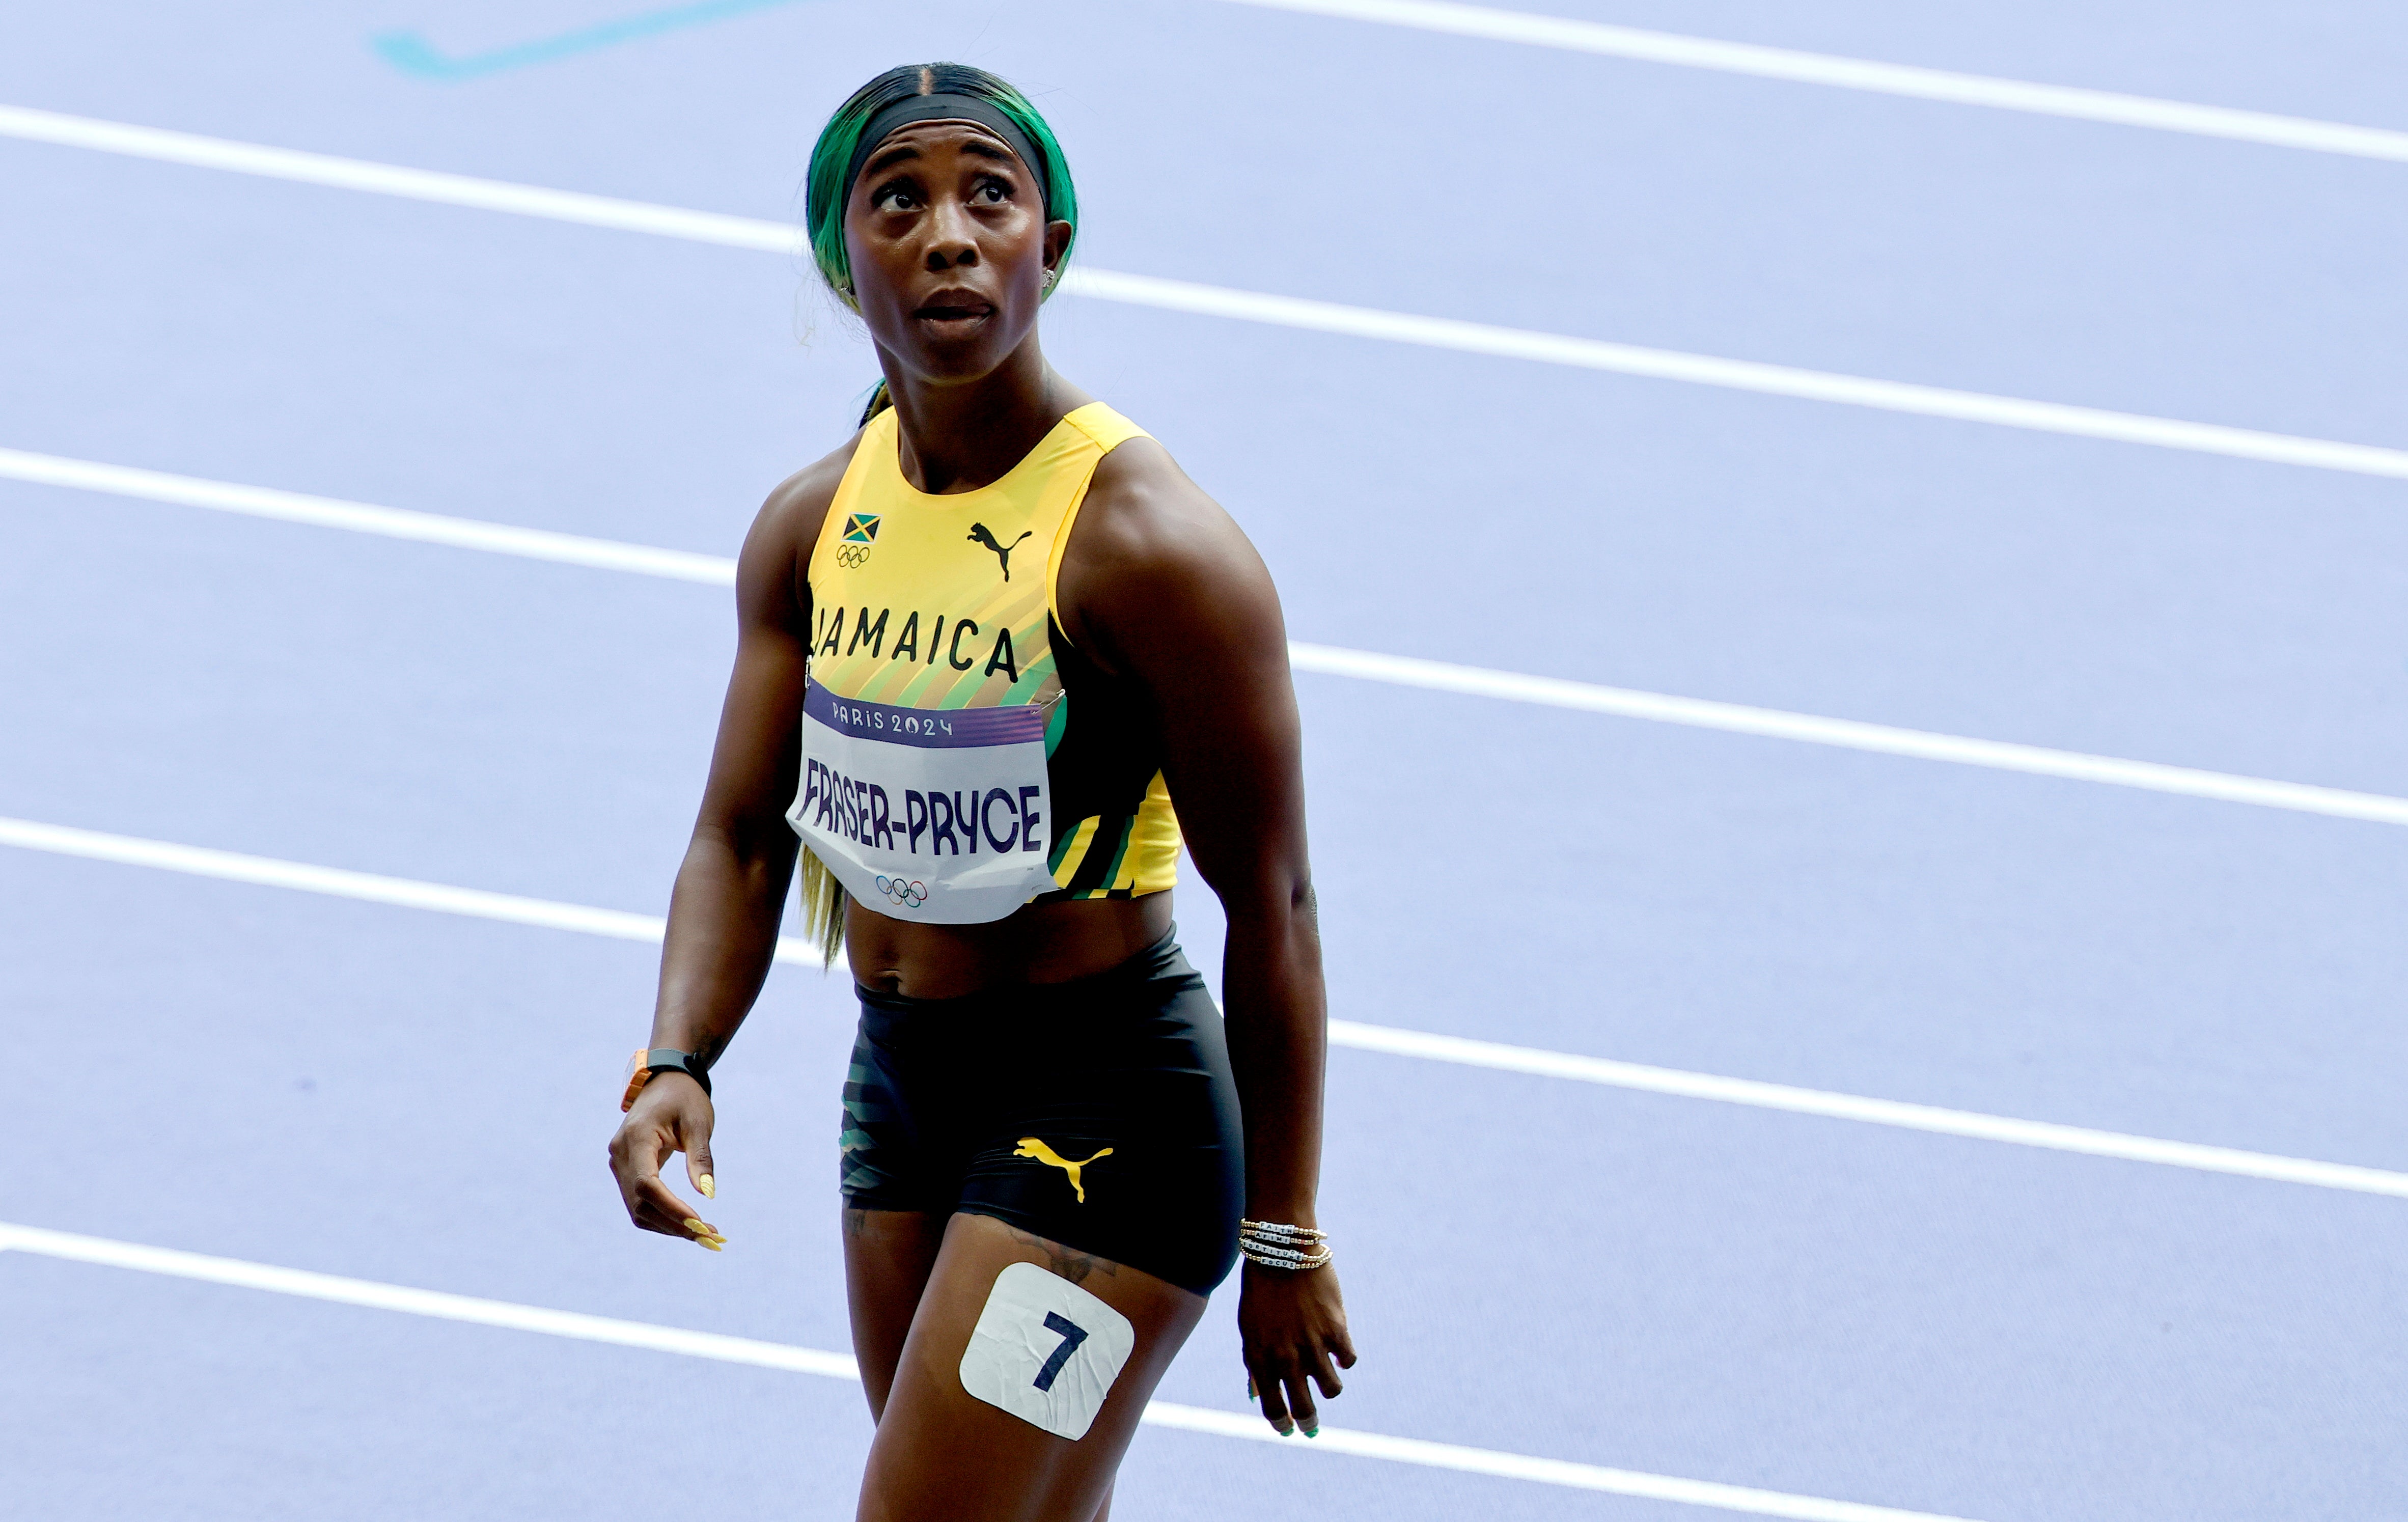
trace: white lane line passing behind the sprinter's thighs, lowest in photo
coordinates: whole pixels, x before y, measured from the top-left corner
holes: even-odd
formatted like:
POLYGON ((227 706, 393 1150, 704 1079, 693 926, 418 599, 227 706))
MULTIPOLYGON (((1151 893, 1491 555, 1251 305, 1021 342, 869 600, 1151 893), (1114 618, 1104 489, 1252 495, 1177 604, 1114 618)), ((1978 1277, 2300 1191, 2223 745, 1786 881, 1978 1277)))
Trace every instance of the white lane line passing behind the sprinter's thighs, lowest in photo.
MULTIPOLYGON (((860 1370, 848 1353, 826 1353, 821 1349, 802 1349, 785 1341, 722 1337, 718 1332, 689 1332, 684 1327, 628 1322, 609 1315, 583 1315, 576 1310, 549 1310, 544 1305, 520 1305, 515 1300, 453 1296, 431 1288, 380 1284, 376 1279, 344 1279, 340 1274, 279 1269, 275 1264, 246 1262, 241 1257, 209 1257, 205 1252, 178 1252, 173 1247, 147 1247, 142 1243, 120 1243, 113 1238, 0 1221, 0 1252, 5 1250, 111 1269, 132 1269, 137 1274, 164 1274, 171 1279, 197 1279, 202 1284, 224 1284, 231 1288, 255 1288, 275 1296, 330 1300, 335 1305, 361 1305, 366 1310, 397 1310, 402 1315, 426 1315, 445 1322, 470 1322, 477 1327, 503 1327, 508 1332, 542 1332, 544 1337, 602 1341, 621 1349, 645 1349, 653 1353, 681 1353, 686 1358, 713 1358, 718 1363, 746 1363, 751 1368, 775 1368, 797 1375, 821 1375, 831 1380, 860 1378, 860 1370)), ((1531 1455, 1498 1452, 1493 1447, 1462 1447, 1457 1443, 1426 1443, 1421 1438, 1387 1438, 1382 1433, 1356 1433, 1348 1428, 1324 1426, 1320 1438, 1305 1443, 1303 1438, 1281 1438, 1259 1416, 1214 1411, 1209 1406, 1180 1406, 1173 1402, 1151 1402, 1144 1421, 1146 1426, 1211 1433, 1214 1438, 1281 1443, 1288 1452, 1324 1452, 1358 1459, 1387 1459, 1392 1464, 1418 1464, 1426 1469, 1457 1469, 1464 1474, 1522 1479, 1546 1486, 1565 1486, 1572 1491, 1676 1500, 1683 1505, 1705 1505, 1751 1517, 1794 1517, 1796 1522, 1965 1522, 1963 1517, 1905 1512, 1888 1505, 1823 1500, 1820 1496, 1789 1496, 1784 1491, 1722 1486, 1702 1479, 1642 1474, 1637 1469, 1606 1469, 1604 1464, 1539 1459, 1531 1455)))

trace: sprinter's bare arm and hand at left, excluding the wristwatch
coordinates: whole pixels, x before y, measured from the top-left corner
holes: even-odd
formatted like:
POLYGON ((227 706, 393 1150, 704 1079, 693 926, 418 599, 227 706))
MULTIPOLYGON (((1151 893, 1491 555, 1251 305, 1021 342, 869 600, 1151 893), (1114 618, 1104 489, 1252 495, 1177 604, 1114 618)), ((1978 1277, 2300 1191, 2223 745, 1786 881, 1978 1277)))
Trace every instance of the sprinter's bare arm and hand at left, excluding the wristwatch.
MULTIPOLYGON (((737 559, 737 662, 703 809, 669 896, 648 1043, 694 1052, 703 1067, 727 1050, 778 951, 785 889, 795 877, 795 831, 785 809, 802 766, 811 629, 804 568, 850 455, 848 443, 780 484, 737 559)), ((686 1226, 696 1211, 660 1180, 662 1163, 681 1151, 694 1187, 715 1194, 710 1122, 710 1096, 686 1074, 655 1074, 638 1091, 609 1144, 612 1175, 636 1226, 689 1240, 718 1235, 686 1226)))

